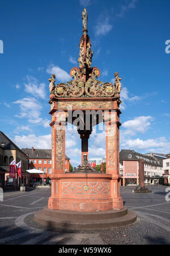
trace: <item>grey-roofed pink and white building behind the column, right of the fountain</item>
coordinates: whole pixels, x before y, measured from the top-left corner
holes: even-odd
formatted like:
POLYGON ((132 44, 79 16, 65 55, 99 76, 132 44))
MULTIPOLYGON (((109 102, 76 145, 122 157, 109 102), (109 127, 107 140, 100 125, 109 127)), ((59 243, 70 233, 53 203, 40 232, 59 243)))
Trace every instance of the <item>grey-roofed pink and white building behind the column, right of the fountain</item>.
POLYGON ((124 150, 120 152, 120 175, 122 185, 139 184, 139 159, 145 161, 145 184, 156 184, 163 182, 163 157, 160 154, 155 156, 153 153, 140 154, 134 150, 124 150))

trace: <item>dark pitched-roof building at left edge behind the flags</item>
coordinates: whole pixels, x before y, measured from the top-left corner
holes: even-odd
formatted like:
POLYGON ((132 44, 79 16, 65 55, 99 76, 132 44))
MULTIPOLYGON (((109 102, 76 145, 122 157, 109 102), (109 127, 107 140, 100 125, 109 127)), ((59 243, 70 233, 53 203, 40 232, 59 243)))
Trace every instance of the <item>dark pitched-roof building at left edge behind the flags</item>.
POLYGON ((21 184, 29 186, 29 174, 27 173, 28 158, 3 132, 0 131, 0 187, 11 190, 20 187, 21 184), (15 178, 10 178, 10 163, 16 159, 16 163, 22 161, 22 178, 16 171, 15 178))

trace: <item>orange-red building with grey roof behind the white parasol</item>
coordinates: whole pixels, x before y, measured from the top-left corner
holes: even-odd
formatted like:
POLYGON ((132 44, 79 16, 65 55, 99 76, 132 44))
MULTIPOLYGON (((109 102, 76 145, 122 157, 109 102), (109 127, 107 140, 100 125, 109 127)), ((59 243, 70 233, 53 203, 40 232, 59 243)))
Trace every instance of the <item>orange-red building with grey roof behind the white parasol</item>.
MULTIPOLYGON (((43 174, 31 174, 30 182, 46 183, 52 174, 52 150, 51 149, 22 149, 28 157, 28 170, 37 169, 43 174)), ((70 171, 70 158, 65 156, 65 172, 70 171)))

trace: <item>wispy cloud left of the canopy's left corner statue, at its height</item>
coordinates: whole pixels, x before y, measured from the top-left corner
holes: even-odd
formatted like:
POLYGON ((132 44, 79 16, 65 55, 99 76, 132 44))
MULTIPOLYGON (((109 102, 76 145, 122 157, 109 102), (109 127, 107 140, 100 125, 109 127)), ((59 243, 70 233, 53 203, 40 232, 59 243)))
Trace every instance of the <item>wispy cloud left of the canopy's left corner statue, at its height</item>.
POLYGON ((32 95, 39 96, 41 99, 46 98, 45 83, 39 83, 35 77, 27 75, 27 83, 24 83, 25 91, 32 95))

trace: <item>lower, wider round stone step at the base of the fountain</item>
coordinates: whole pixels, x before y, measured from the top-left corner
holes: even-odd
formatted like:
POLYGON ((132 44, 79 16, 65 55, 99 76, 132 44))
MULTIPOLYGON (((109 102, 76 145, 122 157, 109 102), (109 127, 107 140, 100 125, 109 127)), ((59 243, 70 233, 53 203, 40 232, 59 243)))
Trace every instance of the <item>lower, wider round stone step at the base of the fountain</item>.
POLYGON ((134 223, 137 220, 137 214, 128 210, 125 216, 99 220, 63 220, 56 217, 45 215, 44 211, 35 213, 35 220, 45 226, 52 228, 59 228, 63 230, 95 230, 105 228, 116 228, 118 226, 125 226, 134 223))

